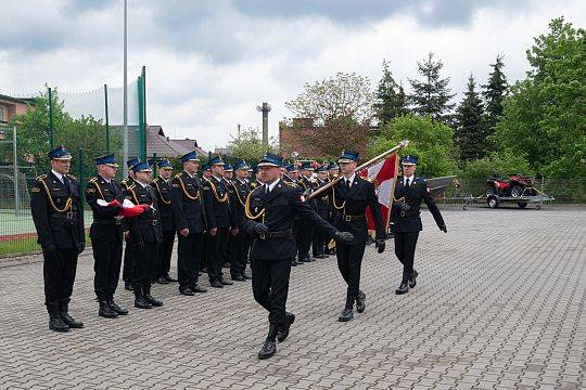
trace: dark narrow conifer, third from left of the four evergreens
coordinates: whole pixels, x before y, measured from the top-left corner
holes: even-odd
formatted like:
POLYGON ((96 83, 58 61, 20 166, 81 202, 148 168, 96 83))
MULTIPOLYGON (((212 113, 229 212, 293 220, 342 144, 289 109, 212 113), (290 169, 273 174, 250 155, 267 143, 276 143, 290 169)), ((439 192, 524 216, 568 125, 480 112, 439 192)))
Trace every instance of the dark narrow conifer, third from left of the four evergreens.
POLYGON ((487 154, 482 100, 476 92, 476 82, 472 74, 468 78, 468 91, 456 110, 455 133, 460 158, 470 161, 487 154))

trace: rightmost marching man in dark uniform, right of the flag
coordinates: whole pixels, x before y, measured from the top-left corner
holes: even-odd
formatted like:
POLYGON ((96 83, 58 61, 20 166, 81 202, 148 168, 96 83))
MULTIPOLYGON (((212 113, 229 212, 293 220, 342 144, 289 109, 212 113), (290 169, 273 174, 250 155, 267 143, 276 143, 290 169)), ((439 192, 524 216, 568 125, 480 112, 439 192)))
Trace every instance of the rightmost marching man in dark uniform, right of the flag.
POLYGON ((409 291, 417 284, 418 273, 413 269, 415 251, 419 232, 423 230, 420 218, 421 203, 428 205, 437 227, 447 233, 446 223, 440 209, 430 194, 425 180, 415 177, 417 157, 406 156, 402 160, 403 177, 399 177, 395 185, 393 199, 393 231, 395 235, 395 255, 403 264, 403 278, 395 294, 402 295, 409 291))

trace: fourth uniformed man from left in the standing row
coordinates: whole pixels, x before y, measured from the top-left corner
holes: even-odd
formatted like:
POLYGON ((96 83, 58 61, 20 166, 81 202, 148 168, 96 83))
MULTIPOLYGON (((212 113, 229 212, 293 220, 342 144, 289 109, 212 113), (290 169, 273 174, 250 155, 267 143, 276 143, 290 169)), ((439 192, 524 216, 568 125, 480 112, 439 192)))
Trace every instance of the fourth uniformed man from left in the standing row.
POLYGON ((156 164, 158 168, 158 178, 151 184, 155 188, 156 200, 161 218, 161 232, 163 238, 160 246, 157 282, 169 284, 177 282, 169 275, 170 258, 173 255, 173 245, 175 243, 175 216, 171 207, 171 173, 173 165, 168 159, 163 159, 156 164))

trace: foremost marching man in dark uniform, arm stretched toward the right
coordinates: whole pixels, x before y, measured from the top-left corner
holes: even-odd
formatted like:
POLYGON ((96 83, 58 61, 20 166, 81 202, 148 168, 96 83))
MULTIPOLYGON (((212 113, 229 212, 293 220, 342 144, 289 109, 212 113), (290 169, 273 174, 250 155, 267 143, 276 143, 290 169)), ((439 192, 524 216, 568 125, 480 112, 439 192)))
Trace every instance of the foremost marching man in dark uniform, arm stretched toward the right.
POLYGON ((321 219, 296 187, 279 179, 280 165, 281 157, 272 154, 266 154, 258 162, 265 184, 246 198, 246 219, 242 222, 242 229, 254 236, 251 248, 254 299, 269 312, 269 332, 258 352, 259 359, 275 354, 276 340, 283 341, 295 321, 295 315, 285 311, 291 259, 296 253, 293 217, 298 214, 328 237, 353 238, 321 219))

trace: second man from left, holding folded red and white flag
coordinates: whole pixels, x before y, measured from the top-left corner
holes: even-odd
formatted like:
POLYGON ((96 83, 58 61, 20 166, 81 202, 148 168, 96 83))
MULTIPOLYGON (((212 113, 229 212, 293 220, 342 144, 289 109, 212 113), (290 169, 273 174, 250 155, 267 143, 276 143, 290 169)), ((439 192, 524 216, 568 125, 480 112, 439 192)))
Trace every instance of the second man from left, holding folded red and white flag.
POLYGON ((93 211, 90 238, 93 249, 93 289, 98 297, 98 314, 106 318, 126 315, 128 311, 114 302, 120 277, 123 251, 124 190, 114 179, 118 164, 114 154, 95 158, 98 176, 86 186, 86 202, 93 211))

